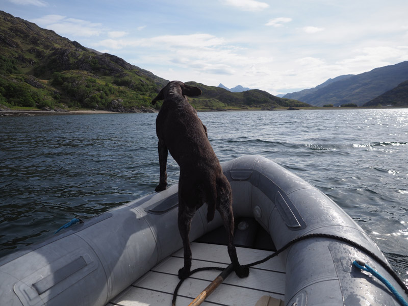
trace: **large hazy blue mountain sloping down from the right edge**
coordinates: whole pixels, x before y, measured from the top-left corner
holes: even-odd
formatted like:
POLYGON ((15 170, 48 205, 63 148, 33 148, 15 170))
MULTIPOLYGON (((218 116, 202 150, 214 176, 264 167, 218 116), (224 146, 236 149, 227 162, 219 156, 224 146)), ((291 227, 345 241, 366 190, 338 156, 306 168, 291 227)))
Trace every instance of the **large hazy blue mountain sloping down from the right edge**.
MULTIPOLYGON (((408 61, 333 80, 335 81, 297 97, 297 99, 314 106, 326 104, 340 106, 348 103, 362 106, 408 80, 408 61)), ((285 95, 285 97, 293 98, 296 95, 285 95)))

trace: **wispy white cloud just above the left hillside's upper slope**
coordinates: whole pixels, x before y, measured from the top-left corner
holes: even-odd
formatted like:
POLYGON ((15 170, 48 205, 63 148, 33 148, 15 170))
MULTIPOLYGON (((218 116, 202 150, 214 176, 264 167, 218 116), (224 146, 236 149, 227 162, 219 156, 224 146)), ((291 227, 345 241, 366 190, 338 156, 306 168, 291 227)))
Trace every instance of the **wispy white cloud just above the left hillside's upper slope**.
POLYGON ((60 35, 74 35, 81 37, 98 36, 106 32, 102 24, 93 23, 87 20, 67 18, 62 15, 45 15, 41 18, 33 19, 33 22, 53 30, 60 35))

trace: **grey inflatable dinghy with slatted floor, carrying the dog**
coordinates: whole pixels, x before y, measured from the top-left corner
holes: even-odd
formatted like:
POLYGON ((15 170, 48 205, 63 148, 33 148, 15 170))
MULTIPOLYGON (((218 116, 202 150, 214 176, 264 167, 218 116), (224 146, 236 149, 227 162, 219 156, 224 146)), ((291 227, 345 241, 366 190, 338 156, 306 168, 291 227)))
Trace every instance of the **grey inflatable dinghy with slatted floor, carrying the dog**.
MULTIPOLYGON (((233 189, 236 238, 244 241, 236 243, 241 246, 237 247, 241 264, 272 253, 267 243, 257 242, 261 230, 276 249, 286 247, 273 259, 251 267, 247 278, 232 273, 208 302, 255 305, 273 298, 292 306, 401 303, 354 261, 377 271, 407 299, 407 289, 377 245, 321 191, 260 156, 243 156, 222 167, 233 189), (251 224, 261 229, 252 231, 251 224), (251 242, 245 242, 250 237, 251 242)), ((0 304, 170 305, 179 282, 177 271, 183 266, 177 205, 177 185, 173 185, 4 257, 0 304)), ((192 269, 229 264, 226 246, 206 241, 210 236, 218 239, 222 227, 218 213, 207 223, 206 210, 204 205, 191 225, 192 269)), ((218 274, 200 272, 187 279, 177 304, 187 305, 218 274)))

